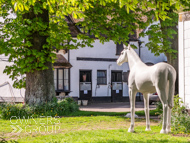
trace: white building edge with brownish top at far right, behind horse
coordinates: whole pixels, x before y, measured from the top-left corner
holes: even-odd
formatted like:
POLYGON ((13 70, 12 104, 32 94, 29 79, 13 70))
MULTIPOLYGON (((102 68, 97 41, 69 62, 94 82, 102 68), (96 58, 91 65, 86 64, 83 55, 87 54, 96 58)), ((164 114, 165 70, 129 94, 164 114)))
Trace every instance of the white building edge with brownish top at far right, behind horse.
POLYGON ((179 14, 179 97, 190 109, 190 12, 179 14))

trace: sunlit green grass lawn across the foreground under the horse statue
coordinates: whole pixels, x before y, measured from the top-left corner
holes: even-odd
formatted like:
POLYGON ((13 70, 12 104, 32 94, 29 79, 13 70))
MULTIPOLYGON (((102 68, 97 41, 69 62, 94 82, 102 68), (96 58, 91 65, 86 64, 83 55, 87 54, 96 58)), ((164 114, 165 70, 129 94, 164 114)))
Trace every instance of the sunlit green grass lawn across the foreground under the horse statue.
MULTIPOLYGON (((145 119, 136 119, 135 133, 128 133, 130 119, 120 115, 98 115, 81 111, 83 117, 36 118, 27 120, 0 120, 0 142, 39 143, 190 143, 190 136, 160 134, 158 122, 151 120, 152 131, 145 131, 145 119), (87 114, 87 116, 84 116, 87 114), (12 126, 12 127, 11 127, 12 126), (20 133, 12 133, 14 128, 20 133), (2 140, 2 141, 1 141, 2 140)), ((78 113, 79 114, 79 113, 78 113)), ((117 113, 119 114, 119 113, 117 113)), ((74 115, 73 115, 74 116, 74 115)))

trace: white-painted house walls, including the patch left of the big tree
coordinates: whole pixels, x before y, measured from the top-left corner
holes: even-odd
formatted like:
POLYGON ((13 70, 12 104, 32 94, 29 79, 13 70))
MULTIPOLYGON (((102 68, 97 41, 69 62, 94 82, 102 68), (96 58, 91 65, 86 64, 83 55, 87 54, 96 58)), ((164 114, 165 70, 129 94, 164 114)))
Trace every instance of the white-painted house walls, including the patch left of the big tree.
MULTIPOLYGON (((0 21, 3 21, 0 18, 0 21)), ((148 28, 146 29, 148 30, 148 28)), ((142 41, 142 45, 139 49, 138 41, 131 41, 130 44, 136 45, 138 47, 135 51, 140 56, 144 63, 153 63, 156 64, 158 62, 167 61, 164 54, 160 54, 160 56, 155 57, 151 51, 145 47, 145 44, 148 42, 148 36, 140 37, 140 41, 142 41)), ((93 44, 93 48, 85 47, 79 48, 76 50, 70 50, 69 55, 66 53, 64 57, 71 63, 73 66, 70 69, 70 96, 72 97, 80 97, 79 92, 79 71, 80 70, 91 70, 92 74, 92 97, 110 97, 111 96, 111 71, 129 71, 128 64, 125 63, 122 66, 118 66, 115 61, 81 61, 77 60, 77 57, 85 57, 85 58, 106 58, 106 59, 117 59, 119 56, 116 55, 116 45, 113 41, 105 42, 101 44, 99 40, 95 40, 93 44), (107 72, 107 84, 105 85, 97 85, 97 70, 106 70, 107 72)), ((7 61, 3 61, 1 59, 7 59, 4 55, 0 55, 0 84, 5 82, 9 82, 11 88, 13 89, 13 94, 16 97, 24 96, 24 89, 19 90, 12 87, 13 81, 3 73, 3 70, 9 63, 7 61)), ((10 89, 8 85, 0 87, 0 97, 11 97, 10 89)), ((122 87, 122 96, 128 97, 128 86, 126 82, 123 82, 122 87)))

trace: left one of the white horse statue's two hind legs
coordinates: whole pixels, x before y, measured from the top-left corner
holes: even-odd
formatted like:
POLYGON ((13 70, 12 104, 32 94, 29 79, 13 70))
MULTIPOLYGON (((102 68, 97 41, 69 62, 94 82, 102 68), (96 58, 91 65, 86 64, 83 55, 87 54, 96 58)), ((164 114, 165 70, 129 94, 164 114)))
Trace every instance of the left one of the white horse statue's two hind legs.
POLYGON ((160 133, 167 133, 166 127, 167 127, 167 114, 168 114, 168 101, 166 97, 166 89, 165 88, 159 88, 156 87, 156 91, 158 93, 158 96, 160 97, 160 100, 162 102, 162 107, 163 107, 163 123, 162 123, 162 130, 160 133))

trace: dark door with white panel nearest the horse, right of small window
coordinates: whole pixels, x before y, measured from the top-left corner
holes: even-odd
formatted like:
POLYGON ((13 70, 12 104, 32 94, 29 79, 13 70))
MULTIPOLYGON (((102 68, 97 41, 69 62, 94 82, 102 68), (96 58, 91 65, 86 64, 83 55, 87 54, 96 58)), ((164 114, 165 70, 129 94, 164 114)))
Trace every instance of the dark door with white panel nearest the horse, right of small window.
POLYGON ((123 98, 123 83, 122 83, 122 71, 111 72, 111 101, 122 101, 123 98))

